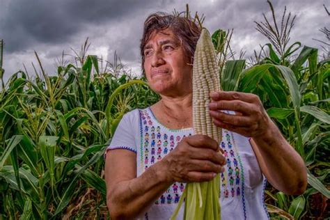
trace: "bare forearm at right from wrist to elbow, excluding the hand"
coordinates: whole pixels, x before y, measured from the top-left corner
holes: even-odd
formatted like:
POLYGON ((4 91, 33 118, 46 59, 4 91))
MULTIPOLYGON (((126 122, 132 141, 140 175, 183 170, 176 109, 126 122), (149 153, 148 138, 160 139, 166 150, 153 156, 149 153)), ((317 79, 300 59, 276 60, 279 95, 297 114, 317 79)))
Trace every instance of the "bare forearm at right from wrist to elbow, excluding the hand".
POLYGON ((253 137, 250 143, 262 173, 272 186, 285 194, 304 193, 307 187, 304 161, 273 122, 269 123, 265 134, 253 137))

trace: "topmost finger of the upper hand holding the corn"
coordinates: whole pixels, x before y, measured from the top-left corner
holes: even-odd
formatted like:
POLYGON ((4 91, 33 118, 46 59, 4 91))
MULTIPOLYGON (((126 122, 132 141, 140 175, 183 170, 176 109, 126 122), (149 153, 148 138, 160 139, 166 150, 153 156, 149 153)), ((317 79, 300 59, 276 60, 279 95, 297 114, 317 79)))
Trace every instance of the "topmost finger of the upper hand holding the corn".
POLYGON ((244 102, 256 103, 260 102, 258 95, 252 93, 240 93, 235 91, 214 91, 210 93, 212 100, 242 100, 244 102))

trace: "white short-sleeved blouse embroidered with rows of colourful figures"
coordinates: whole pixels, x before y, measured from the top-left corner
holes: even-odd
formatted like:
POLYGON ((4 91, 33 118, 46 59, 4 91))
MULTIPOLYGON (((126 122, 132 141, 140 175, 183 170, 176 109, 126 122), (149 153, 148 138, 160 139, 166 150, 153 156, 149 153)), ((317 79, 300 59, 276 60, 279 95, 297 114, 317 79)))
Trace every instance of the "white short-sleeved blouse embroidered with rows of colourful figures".
MULTIPOLYGON (((171 152, 184 136, 192 134, 192 128, 168 129, 159 123, 150 107, 135 109, 120 120, 107 151, 123 148, 135 152, 136 173, 139 177, 148 167, 171 152)), ((249 139, 223 129, 220 146, 227 159, 225 171, 221 173, 221 218, 269 219, 264 202, 267 180, 260 171, 249 139)), ((184 186, 182 182, 172 184, 141 219, 169 219, 184 186)), ((182 219, 183 207, 178 219, 182 219)))

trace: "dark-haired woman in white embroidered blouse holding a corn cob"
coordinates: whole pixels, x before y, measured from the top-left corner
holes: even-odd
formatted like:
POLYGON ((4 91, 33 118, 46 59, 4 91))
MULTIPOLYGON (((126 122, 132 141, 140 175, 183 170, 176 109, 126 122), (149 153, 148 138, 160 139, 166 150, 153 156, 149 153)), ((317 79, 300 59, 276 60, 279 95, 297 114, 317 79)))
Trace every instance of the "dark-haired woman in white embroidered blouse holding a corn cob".
POLYGON ((169 219, 186 182, 209 181, 218 173, 223 219, 269 218, 266 178, 285 194, 306 189, 304 161, 256 95, 214 91, 210 116, 223 128, 223 140, 194 135, 191 63, 200 33, 185 17, 157 13, 146 19, 143 70, 162 99, 126 113, 107 148, 112 219, 169 219))

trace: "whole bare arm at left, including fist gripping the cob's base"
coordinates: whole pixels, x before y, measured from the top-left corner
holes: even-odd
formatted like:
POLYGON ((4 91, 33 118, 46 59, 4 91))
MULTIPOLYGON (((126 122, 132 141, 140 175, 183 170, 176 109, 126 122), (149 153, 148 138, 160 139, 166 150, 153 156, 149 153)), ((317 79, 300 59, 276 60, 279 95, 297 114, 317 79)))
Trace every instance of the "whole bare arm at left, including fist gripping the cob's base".
POLYGON ((136 153, 116 149, 107 153, 105 180, 111 219, 136 219, 173 182, 210 181, 226 160, 208 136, 189 136, 162 160, 136 178, 136 153))

